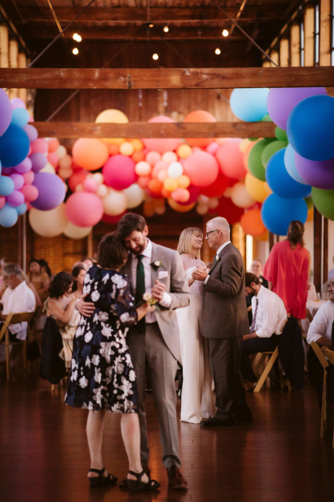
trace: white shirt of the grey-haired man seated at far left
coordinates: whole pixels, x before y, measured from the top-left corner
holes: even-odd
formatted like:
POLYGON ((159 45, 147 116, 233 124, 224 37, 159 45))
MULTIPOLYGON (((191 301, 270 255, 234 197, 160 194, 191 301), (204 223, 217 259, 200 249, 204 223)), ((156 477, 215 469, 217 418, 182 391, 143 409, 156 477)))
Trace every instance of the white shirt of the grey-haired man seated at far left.
MULTIPOLYGON (((3 314, 7 315, 11 312, 20 314, 21 312, 34 312, 36 300, 32 290, 27 286, 25 281, 19 284, 15 289, 7 288, 1 299, 4 305, 3 314)), ((25 340, 27 337, 27 322, 18 322, 10 324, 9 330, 15 333, 19 340, 25 340)))

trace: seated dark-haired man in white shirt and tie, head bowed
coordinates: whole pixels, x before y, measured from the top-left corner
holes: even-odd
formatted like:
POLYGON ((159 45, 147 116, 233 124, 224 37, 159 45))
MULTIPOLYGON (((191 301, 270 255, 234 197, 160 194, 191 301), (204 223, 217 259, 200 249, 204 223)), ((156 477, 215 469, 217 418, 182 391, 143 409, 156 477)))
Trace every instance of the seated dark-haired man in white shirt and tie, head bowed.
POLYGON ((249 328, 250 333, 242 338, 240 370, 245 389, 252 391, 257 379, 249 355, 275 350, 287 321, 287 314, 279 296, 264 288, 254 274, 245 274, 245 286, 246 293, 251 296, 253 321, 249 328))

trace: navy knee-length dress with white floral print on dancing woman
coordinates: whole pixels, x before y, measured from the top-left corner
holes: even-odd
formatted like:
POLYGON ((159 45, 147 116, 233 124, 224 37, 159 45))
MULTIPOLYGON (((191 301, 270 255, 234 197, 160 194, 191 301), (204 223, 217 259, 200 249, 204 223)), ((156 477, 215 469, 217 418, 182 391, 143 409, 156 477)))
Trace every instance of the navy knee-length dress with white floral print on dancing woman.
POLYGON ((137 322, 130 281, 115 270, 93 265, 85 276, 91 317, 81 316, 73 339, 73 356, 65 403, 88 410, 136 412, 138 400, 126 333, 137 322))

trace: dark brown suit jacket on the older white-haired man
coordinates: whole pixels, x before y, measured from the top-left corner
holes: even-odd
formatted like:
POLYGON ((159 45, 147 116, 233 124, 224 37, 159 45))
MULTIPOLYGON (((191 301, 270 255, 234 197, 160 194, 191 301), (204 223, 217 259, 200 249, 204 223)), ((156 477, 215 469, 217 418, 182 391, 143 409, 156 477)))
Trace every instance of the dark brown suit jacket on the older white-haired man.
POLYGON ((201 315, 205 338, 233 338, 249 331, 245 272, 239 250, 230 242, 219 254, 204 285, 201 315))

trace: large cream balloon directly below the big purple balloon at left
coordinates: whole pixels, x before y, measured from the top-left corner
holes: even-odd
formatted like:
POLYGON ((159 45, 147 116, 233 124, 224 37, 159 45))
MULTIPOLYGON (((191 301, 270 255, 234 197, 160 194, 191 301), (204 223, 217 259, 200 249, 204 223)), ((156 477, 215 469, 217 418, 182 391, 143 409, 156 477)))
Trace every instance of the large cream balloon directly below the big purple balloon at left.
POLYGON ((42 237, 60 235, 68 222, 64 202, 50 211, 40 211, 34 207, 29 211, 29 223, 32 229, 42 237))

